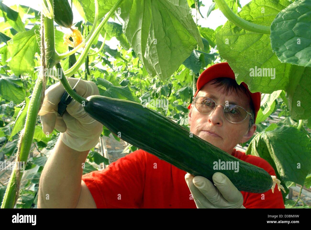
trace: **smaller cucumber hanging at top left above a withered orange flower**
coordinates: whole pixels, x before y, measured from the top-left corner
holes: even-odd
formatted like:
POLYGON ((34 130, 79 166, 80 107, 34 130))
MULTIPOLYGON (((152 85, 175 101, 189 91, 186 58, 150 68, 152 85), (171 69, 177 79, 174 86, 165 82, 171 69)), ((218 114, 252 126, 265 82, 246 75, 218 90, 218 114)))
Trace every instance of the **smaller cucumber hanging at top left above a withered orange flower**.
POLYGON ((73 13, 68 0, 54 0, 54 21, 62 27, 72 27, 73 13))

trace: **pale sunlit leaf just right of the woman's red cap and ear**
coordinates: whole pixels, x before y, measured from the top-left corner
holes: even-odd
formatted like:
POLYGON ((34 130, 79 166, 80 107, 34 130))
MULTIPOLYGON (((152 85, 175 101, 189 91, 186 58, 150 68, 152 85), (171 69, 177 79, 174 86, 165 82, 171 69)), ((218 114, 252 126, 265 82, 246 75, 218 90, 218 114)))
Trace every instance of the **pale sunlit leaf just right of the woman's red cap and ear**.
POLYGON ((260 109, 256 117, 256 124, 261 123, 270 116, 275 107, 275 100, 279 97, 282 90, 273 92, 272 94, 261 94, 260 109))

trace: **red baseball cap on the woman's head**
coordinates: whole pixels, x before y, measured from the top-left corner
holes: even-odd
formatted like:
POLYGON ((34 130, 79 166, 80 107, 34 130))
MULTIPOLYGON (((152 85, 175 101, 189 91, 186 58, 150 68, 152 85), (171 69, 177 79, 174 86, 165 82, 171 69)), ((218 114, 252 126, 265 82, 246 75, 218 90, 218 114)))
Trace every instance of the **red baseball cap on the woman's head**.
MULTIPOLYGON (((194 94, 194 97, 197 95, 199 90, 201 90, 201 88, 206 83, 219 77, 228 77, 228 78, 232 78, 235 80, 234 72, 229 66, 228 62, 221 62, 215 65, 212 65, 200 74, 199 78, 197 79, 197 92, 194 94)), ((248 91, 249 95, 251 96, 251 99, 253 101, 254 108, 255 108, 255 121, 256 121, 257 113, 260 108, 261 93, 260 92, 251 93, 248 90, 248 86, 244 82, 241 82, 241 84, 245 87, 245 89, 248 91)), ((188 106, 188 109, 190 109, 190 105, 188 106)))

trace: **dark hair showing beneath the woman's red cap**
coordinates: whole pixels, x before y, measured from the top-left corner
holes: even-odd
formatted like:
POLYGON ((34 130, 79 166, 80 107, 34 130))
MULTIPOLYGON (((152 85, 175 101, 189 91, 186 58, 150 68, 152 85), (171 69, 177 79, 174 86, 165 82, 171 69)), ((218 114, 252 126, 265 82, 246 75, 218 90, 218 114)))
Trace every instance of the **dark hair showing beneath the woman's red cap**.
MULTIPOLYGON (((233 90, 235 90, 237 94, 239 94, 239 91, 246 94, 250 99, 249 107, 251 109, 252 117, 253 119, 255 119, 255 108, 253 100, 243 85, 238 85, 238 83, 234 79, 228 77, 215 78, 211 80, 210 83, 211 85, 216 85, 220 87, 220 89, 224 89, 226 92, 232 92, 233 90)), ((249 119, 248 130, 250 129, 250 127, 252 127, 254 123, 253 119, 249 119)))

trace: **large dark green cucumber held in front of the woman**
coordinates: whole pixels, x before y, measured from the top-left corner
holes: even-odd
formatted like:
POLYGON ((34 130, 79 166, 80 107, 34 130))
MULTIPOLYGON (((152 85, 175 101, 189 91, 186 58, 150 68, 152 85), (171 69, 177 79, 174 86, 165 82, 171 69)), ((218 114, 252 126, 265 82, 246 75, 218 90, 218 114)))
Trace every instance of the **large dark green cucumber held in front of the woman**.
POLYGON ((196 135, 190 137, 179 124, 142 104, 93 95, 86 99, 84 110, 114 134, 121 134, 121 139, 194 176, 212 181, 213 174, 221 172, 239 191, 253 193, 272 187, 272 177, 264 169, 239 160, 196 135), (239 172, 214 170, 213 162, 219 160, 239 162, 239 172))

